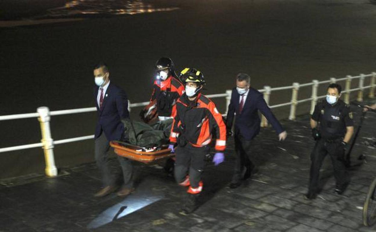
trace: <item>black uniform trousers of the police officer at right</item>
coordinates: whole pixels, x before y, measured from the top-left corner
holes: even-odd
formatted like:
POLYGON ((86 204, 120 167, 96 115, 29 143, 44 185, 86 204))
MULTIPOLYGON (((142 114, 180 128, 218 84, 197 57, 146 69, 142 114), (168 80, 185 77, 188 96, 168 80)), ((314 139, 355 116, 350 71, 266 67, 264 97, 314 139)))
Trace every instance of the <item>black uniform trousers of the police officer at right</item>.
POLYGON ((344 188, 350 181, 349 173, 345 166, 341 140, 325 140, 321 138, 321 140, 316 142, 311 153, 308 194, 314 195, 318 193, 320 168, 327 154, 332 159, 336 188, 344 188))

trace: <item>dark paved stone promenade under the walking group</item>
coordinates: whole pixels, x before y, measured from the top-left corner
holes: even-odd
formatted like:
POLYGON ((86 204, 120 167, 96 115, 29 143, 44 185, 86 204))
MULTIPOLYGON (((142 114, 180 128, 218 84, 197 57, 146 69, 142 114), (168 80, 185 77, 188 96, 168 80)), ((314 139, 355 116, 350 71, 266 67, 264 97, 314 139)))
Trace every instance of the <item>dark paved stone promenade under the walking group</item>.
POLYGON ((65 168, 53 179, 35 175, 1 180, 0 231, 376 231, 376 226, 362 225, 364 198, 376 174, 376 149, 371 146, 376 115, 365 118, 346 192, 333 193, 327 158, 321 171, 323 190, 311 201, 302 197, 314 145, 308 119, 282 121, 289 133, 284 142, 277 141, 271 128, 262 129, 254 147, 259 173, 235 190, 226 187, 235 161, 230 142, 224 164, 208 162, 200 208, 191 215, 179 214, 185 189, 159 165, 137 164, 136 191, 129 197, 96 199, 100 174, 95 164, 86 164, 65 168), (364 160, 357 159, 361 154, 364 160))

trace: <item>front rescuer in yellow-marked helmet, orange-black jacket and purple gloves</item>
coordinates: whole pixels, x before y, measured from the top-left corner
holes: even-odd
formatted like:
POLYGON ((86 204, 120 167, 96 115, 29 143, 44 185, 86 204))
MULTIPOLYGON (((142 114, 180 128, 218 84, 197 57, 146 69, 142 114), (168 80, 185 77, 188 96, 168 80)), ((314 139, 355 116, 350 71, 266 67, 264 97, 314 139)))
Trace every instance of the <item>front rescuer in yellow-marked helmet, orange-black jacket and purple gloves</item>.
POLYGON ((203 187, 201 174, 205 166, 204 159, 209 153, 213 129, 217 139, 213 162, 218 165, 224 161, 226 125, 214 102, 201 94, 205 84, 203 74, 196 69, 186 68, 182 71, 182 77, 185 80, 185 93, 176 103, 169 148, 176 153, 176 182, 189 186, 189 197, 181 212, 188 214, 197 208, 197 196, 203 187), (177 145, 175 150, 174 145, 177 145))

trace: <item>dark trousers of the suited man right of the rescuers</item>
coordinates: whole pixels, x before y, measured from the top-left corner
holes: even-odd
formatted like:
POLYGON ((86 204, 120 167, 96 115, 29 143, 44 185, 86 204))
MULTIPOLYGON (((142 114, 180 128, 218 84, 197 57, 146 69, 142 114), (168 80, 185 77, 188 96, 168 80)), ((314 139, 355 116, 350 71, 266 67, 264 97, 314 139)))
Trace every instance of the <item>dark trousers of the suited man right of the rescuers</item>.
POLYGON ((256 166, 254 154, 252 153, 253 140, 245 140, 241 135, 235 135, 236 161, 232 183, 237 183, 243 178, 243 170, 252 170, 256 166))

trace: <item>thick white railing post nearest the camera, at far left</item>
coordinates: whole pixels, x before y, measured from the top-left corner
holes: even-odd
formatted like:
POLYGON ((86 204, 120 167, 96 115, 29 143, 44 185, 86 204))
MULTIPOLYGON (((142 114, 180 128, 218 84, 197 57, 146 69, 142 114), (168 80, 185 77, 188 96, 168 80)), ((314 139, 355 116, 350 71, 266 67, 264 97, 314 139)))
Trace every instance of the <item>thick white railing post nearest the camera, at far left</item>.
POLYGON ((51 138, 50 130, 50 109, 48 107, 42 106, 36 110, 39 114, 38 121, 41 125, 42 132, 42 144, 44 150, 45 159, 45 174, 49 177, 54 177, 58 175, 58 169, 55 166, 55 158, 53 155, 53 139, 51 138))

